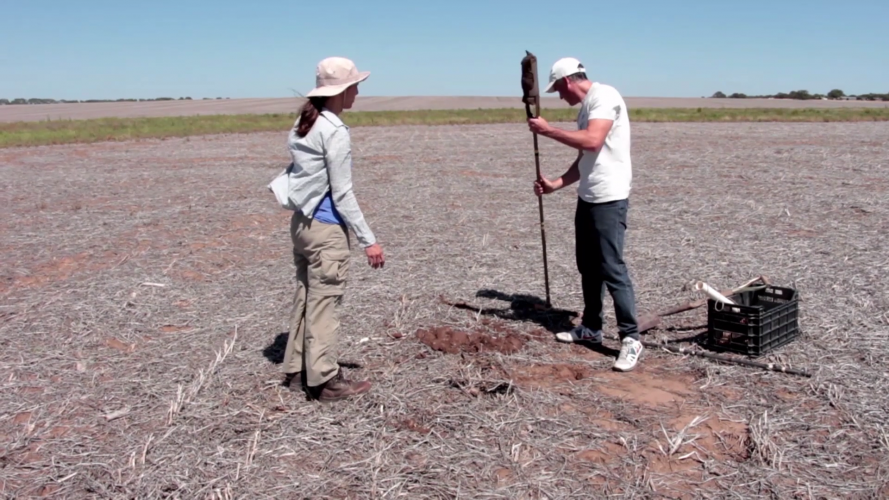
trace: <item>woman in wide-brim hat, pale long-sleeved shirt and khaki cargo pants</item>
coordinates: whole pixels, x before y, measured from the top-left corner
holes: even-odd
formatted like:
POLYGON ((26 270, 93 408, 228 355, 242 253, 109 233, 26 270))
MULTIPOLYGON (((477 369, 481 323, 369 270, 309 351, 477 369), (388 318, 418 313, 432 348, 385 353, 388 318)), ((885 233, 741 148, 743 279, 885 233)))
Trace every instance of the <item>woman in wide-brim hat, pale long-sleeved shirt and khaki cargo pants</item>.
POLYGON ((373 268, 383 267, 383 250, 352 192, 349 127, 340 113, 352 107, 358 84, 370 75, 345 58, 318 64, 308 94, 288 137, 293 158, 289 197, 297 290, 284 354, 285 384, 303 385, 312 398, 334 401, 362 394, 370 382, 346 379, 337 363, 338 310, 349 270, 349 229, 373 268))

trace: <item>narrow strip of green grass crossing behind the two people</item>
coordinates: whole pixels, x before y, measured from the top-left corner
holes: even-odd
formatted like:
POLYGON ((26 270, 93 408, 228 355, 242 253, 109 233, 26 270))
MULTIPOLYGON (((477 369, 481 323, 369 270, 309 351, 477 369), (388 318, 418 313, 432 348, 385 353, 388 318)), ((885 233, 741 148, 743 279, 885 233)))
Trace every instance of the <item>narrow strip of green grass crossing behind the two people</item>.
MULTIPOLYGON (((573 122, 577 109, 544 109, 552 122, 573 122)), ((99 118, 0 123, 0 148, 49 144, 159 139, 207 134, 284 132, 295 114, 177 116, 163 118, 99 118)), ((419 111, 356 111, 343 114, 352 127, 395 125, 478 125, 521 123, 524 109, 457 109, 419 111)), ((889 121, 886 108, 640 108, 630 110, 634 122, 855 122, 889 121)))

